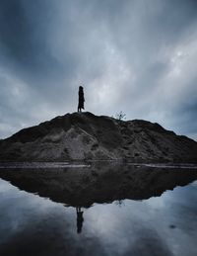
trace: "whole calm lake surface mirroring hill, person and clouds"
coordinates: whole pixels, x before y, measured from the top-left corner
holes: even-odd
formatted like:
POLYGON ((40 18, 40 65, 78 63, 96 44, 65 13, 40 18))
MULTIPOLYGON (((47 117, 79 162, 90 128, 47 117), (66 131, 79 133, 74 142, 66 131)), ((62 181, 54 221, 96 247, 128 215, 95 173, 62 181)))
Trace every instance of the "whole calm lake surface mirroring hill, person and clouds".
POLYGON ((197 255, 195 166, 0 168, 0 255, 197 255))

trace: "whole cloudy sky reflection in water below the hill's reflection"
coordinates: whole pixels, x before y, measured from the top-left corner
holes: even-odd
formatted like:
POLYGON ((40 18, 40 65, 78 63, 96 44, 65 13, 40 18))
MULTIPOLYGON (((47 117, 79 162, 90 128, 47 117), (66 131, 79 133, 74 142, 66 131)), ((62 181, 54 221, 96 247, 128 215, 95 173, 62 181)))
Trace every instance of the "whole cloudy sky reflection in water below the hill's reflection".
POLYGON ((0 253, 5 242, 9 252, 28 248, 34 255, 62 251, 90 255, 92 251, 94 255, 194 256, 196 189, 195 182, 195 186, 177 187, 158 198, 125 200, 122 208, 115 202, 96 204, 83 210, 85 221, 79 236, 75 209, 0 180, 0 253), (170 229, 170 224, 175 228, 170 229))

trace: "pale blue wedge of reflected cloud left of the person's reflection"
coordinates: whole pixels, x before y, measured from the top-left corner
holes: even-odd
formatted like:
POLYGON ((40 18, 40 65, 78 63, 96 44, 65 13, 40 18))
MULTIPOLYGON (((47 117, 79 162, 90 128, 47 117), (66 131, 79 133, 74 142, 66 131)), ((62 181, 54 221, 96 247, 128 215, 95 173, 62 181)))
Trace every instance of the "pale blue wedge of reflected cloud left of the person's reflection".
POLYGON ((60 204, 19 191, 8 182, 0 181, 0 232, 6 229, 5 237, 21 232, 39 221, 36 219, 37 213, 44 215, 57 207, 64 210, 60 204))

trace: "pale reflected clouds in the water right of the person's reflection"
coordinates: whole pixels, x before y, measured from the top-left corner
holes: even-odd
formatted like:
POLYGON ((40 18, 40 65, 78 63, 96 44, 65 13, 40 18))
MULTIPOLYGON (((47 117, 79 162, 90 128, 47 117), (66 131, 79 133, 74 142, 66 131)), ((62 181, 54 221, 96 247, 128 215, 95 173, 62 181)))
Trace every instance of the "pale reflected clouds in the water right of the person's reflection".
MULTIPOLYGON (((138 252, 136 255, 157 255, 161 252, 159 255, 174 253, 183 256, 188 253, 187 242, 191 252, 194 252, 196 230, 194 227, 192 230, 190 228, 195 225, 196 220, 193 215, 195 209, 188 212, 190 204, 187 196, 190 187, 192 186, 178 187, 165 192, 161 197, 142 202, 125 200, 124 208, 110 204, 103 209, 103 206, 96 205, 86 213, 87 232, 97 234, 104 246, 115 248, 120 254, 129 251, 138 252), (175 229, 170 229, 170 224, 175 224, 175 229), (151 253, 150 246, 153 249, 151 253)), ((196 189, 190 192, 196 197, 196 189)), ((196 201, 191 202, 194 205, 196 201)))

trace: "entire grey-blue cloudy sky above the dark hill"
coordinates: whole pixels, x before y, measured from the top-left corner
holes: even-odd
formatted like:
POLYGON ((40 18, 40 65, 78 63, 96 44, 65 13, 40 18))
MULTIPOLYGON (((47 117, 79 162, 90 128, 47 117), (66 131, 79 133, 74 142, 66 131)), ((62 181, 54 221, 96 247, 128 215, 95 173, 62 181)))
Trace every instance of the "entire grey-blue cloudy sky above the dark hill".
POLYGON ((0 137, 77 109, 197 139, 196 0, 0 0, 0 137))

